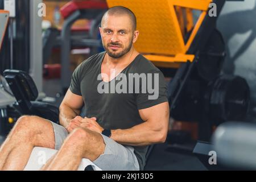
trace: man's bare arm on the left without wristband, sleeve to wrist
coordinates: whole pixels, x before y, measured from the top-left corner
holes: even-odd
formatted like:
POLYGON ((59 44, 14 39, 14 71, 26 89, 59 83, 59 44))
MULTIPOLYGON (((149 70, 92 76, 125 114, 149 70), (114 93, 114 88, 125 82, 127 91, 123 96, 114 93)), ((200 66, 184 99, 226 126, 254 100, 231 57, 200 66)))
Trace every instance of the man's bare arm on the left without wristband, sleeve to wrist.
POLYGON ((73 94, 71 90, 68 89, 60 105, 60 125, 67 128, 69 122, 80 114, 80 109, 83 104, 82 96, 73 94))

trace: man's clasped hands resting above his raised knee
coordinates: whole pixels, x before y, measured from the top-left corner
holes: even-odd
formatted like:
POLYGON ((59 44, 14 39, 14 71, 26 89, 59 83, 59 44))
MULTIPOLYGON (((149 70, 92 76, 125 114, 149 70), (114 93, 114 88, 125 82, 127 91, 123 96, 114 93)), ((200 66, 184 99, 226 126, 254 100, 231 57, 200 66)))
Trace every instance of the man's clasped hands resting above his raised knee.
POLYGON ((95 131, 97 133, 102 133, 104 130, 98 123, 97 118, 82 118, 80 116, 75 117, 69 122, 68 127, 66 128, 68 130, 68 133, 71 133, 74 129, 77 127, 86 128, 92 131, 95 131))

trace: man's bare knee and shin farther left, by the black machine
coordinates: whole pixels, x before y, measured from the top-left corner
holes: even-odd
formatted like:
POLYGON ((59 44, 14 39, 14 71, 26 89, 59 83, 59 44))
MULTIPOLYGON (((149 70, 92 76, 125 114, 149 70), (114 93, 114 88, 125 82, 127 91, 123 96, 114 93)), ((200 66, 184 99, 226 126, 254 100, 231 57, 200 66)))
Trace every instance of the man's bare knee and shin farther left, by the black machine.
POLYGON ((35 146, 55 147, 52 124, 40 117, 20 117, 0 148, 0 170, 23 170, 35 146))

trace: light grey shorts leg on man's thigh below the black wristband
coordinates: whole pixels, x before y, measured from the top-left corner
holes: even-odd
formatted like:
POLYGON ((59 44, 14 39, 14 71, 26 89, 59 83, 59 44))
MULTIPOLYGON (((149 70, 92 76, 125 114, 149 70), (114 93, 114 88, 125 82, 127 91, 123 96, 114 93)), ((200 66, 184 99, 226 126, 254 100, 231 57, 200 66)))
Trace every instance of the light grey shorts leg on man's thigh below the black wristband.
POLYGON ((104 154, 93 161, 96 166, 104 171, 139 171, 133 147, 123 146, 105 135, 102 137, 106 147, 104 154))

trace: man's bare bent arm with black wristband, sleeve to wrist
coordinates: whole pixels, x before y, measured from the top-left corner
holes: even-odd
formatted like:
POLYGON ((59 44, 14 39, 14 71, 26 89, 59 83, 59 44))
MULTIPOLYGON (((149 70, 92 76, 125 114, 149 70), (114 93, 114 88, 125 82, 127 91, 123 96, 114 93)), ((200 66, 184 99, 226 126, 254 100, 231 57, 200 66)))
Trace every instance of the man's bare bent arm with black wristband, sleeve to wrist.
POLYGON ((130 146, 146 146, 163 143, 167 137, 169 123, 168 102, 139 110, 143 123, 126 130, 112 130, 111 138, 130 146))

